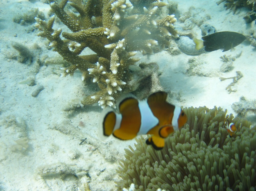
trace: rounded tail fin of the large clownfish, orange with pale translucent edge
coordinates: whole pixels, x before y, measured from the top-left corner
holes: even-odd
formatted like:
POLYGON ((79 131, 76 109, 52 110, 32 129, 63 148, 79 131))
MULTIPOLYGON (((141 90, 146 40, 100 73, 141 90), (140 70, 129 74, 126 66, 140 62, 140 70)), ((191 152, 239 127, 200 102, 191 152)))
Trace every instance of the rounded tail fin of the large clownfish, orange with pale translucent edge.
POLYGON ((116 123, 116 112, 111 107, 106 107, 100 114, 98 133, 99 137, 104 139, 109 137, 115 127, 116 123))

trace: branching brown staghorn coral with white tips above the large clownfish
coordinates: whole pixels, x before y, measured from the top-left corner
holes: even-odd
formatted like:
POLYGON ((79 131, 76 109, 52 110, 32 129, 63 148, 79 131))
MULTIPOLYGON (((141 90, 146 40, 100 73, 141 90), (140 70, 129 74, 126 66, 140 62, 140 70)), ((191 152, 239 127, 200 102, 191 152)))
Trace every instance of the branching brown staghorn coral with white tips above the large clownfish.
POLYGON ((47 38, 53 51, 71 64, 64 76, 79 69, 83 81, 92 79, 100 88, 85 97, 83 105, 98 102, 101 107, 115 107, 120 91, 135 90, 129 83, 133 79, 129 67, 139 61, 133 57, 136 52, 153 54, 177 35, 174 15, 160 16, 161 7, 166 6, 162 1, 49 0, 49 4, 54 15, 48 22, 36 18, 39 36, 47 38), (74 11, 66 8, 67 3, 74 11), (53 29, 55 17, 72 32, 53 29), (86 47, 96 54, 81 55, 86 47))

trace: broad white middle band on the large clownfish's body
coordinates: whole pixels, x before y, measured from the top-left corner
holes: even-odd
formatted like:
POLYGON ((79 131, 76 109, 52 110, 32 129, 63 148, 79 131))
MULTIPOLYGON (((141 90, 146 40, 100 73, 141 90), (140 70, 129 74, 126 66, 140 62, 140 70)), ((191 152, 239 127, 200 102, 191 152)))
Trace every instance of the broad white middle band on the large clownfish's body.
POLYGON ((137 135, 145 135, 147 134, 149 128, 157 125, 159 120, 153 115, 153 112, 147 104, 147 100, 142 100, 139 102, 139 109, 141 114, 141 125, 137 135))

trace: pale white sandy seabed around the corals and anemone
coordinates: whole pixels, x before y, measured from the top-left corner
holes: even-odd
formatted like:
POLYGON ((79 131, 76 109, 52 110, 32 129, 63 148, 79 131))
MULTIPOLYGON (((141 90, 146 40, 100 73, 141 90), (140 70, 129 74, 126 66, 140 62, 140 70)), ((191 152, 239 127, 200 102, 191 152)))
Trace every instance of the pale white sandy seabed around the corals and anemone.
MULTIPOLYGON (((254 23, 245 24, 244 9, 235 15, 225 11, 223 4, 216 1, 181 1, 180 13, 188 11, 190 6, 203 8, 211 19, 207 23, 217 31, 235 31, 248 33, 255 29, 254 23), (204 2, 203 4, 201 4, 204 2)), ((101 108, 89 106, 75 112, 63 111, 73 99, 81 99, 90 94, 93 88, 85 86, 81 74, 73 77, 59 77, 53 73, 58 66, 40 67, 35 76, 36 85, 21 85, 31 73, 32 65, 18 63, 10 55, 17 54, 11 42, 33 48, 37 44, 42 48, 40 57, 57 56, 47 49, 46 40, 37 36, 37 32, 27 33, 29 26, 12 21, 16 14, 24 14, 31 8, 39 8, 47 15, 49 6, 41 2, 31 3, 25 0, 0 2, 0 190, 115 190, 114 180, 118 180, 115 169, 118 161, 124 159, 124 148, 133 145, 135 140, 119 141, 114 138, 101 141, 97 126, 101 108), (44 89, 37 97, 31 93, 38 85, 44 89), (83 124, 82 124, 83 123, 83 124), (24 152, 12 152, 15 140, 27 136, 29 147, 24 152), (79 145, 82 139, 87 140, 79 145), (64 174, 64 175, 63 175, 64 174), (78 178, 77 178, 78 177, 78 178), (79 187, 79 188, 77 188, 79 187)), ((55 28, 62 27, 55 25, 55 28)), ((193 32, 201 38, 200 29, 195 26, 193 32)), ((140 56, 140 55, 138 55, 140 56)), ((180 93, 180 98, 169 99, 172 103, 189 106, 221 106, 234 113, 231 105, 241 96, 255 99, 255 49, 243 42, 234 52, 221 50, 204 53, 200 56, 177 56, 167 51, 151 56, 143 56, 143 62, 159 64, 161 85, 167 92, 180 93), (222 65, 220 56, 242 54, 233 62, 233 69, 219 72, 222 65), (204 62, 201 70, 212 77, 188 76, 185 74, 190 58, 204 62), (219 77, 232 77, 241 71, 243 77, 228 93, 225 89, 232 80, 220 81, 219 77)))

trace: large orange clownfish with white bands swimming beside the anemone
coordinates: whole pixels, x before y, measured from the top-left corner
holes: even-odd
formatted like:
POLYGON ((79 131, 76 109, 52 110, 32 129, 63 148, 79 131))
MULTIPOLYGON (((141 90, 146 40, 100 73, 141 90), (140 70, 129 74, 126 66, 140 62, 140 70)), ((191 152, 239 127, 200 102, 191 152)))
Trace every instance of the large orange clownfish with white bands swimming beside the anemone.
MULTIPOLYGON (((146 140, 156 150, 165 145, 165 138, 187 122, 180 107, 166 102, 166 92, 156 92, 147 99, 126 97, 117 104, 118 112, 106 108, 101 113, 99 133, 105 137, 113 134, 121 140, 130 140, 137 135, 152 134, 146 140)), ((100 135, 101 136, 101 135, 100 135)))

